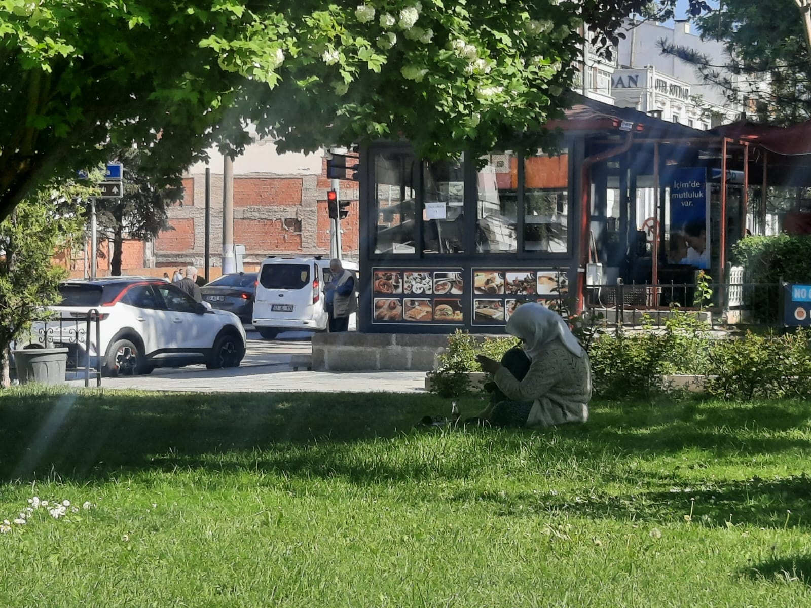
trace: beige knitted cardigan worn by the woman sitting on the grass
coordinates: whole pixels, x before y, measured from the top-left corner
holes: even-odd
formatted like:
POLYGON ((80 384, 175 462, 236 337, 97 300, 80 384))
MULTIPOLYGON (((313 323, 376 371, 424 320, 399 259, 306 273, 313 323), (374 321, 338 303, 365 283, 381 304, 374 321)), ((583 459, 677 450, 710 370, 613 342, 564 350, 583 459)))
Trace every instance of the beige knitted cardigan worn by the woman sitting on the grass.
POLYGON ((556 340, 530 365, 521 382, 502 367, 494 377, 508 399, 532 402, 526 426, 586 422, 591 399, 589 356, 577 357, 556 340))

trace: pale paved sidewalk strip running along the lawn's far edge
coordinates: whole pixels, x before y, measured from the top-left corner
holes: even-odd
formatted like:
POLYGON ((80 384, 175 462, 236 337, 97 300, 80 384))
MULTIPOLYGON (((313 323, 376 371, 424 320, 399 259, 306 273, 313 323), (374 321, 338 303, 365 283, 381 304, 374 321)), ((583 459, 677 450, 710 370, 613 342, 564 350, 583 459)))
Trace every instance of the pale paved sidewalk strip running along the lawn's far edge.
MULTIPOLYGON (((190 369, 190 368, 184 368, 190 369)), ((71 380, 84 387, 84 380, 71 380)), ((155 370, 152 375, 104 378, 105 388, 137 388, 143 391, 191 392, 418 392, 425 390, 424 371, 292 371, 288 365, 238 367, 189 373, 155 370)), ((95 383, 91 380, 91 386, 95 383)))

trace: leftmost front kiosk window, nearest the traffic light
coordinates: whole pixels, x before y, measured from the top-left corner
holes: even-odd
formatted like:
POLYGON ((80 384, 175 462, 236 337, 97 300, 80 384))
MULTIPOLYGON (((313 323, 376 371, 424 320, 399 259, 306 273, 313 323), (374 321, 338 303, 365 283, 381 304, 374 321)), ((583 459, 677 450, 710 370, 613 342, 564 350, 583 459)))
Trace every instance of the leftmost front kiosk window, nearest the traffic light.
POLYGON ((376 254, 416 253, 416 191, 418 165, 405 152, 375 154, 376 254))

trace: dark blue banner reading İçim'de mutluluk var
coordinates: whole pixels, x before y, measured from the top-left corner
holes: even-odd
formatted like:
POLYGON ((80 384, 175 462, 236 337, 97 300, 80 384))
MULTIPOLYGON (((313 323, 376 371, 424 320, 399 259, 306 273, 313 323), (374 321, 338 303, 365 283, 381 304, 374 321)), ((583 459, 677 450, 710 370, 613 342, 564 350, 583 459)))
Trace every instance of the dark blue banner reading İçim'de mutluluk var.
POLYGON ((710 268, 710 186, 704 167, 673 169, 669 259, 710 268))

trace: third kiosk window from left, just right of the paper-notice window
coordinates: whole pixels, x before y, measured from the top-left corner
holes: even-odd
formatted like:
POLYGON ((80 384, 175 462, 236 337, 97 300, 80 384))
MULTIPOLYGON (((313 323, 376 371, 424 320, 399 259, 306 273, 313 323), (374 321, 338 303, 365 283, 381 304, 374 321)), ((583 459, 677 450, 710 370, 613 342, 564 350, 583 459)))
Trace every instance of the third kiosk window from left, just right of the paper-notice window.
POLYGON ((476 178, 476 252, 517 253, 518 157, 493 152, 485 159, 476 178))

